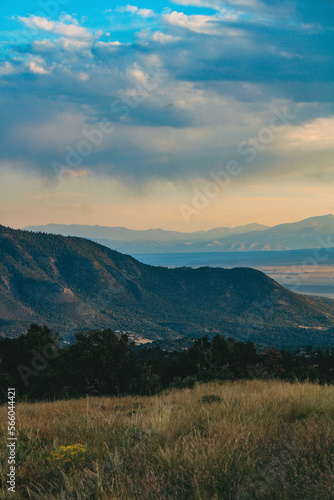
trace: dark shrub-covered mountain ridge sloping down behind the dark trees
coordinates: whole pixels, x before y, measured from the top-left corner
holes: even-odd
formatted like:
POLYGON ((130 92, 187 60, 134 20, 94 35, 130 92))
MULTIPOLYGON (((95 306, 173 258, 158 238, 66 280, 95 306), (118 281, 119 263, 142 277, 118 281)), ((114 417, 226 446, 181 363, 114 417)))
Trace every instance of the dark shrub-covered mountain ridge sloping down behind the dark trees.
POLYGON ((248 268, 167 269, 92 241, 0 226, 0 332, 110 327, 145 337, 222 333, 260 345, 334 343, 333 302, 248 268))

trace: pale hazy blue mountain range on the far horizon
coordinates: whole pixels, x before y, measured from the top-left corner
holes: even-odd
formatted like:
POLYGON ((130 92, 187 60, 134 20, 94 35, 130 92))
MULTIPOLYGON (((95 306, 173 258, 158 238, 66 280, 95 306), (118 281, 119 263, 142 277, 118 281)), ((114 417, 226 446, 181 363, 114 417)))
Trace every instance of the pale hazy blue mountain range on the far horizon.
POLYGON ((248 224, 235 228, 179 233, 150 229, 135 231, 122 227, 48 224, 29 226, 29 231, 79 236, 119 252, 141 253, 244 252, 302 250, 334 247, 334 216, 311 217, 300 222, 268 227, 248 224))

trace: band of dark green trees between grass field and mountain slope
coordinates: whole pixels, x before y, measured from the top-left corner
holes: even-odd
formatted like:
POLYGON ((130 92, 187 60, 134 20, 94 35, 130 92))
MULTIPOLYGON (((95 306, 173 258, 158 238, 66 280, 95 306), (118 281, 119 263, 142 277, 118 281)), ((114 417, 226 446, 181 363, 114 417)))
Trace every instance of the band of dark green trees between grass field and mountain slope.
POLYGON ((308 347, 298 353, 275 347, 259 352, 252 342, 217 335, 196 340, 182 353, 138 349, 111 330, 77 333, 67 345, 47 327, 0 339, 1 403, 7 388, 21 400, 156 394, 197 381, 280 378, 334 382, 334 350, 308 347))

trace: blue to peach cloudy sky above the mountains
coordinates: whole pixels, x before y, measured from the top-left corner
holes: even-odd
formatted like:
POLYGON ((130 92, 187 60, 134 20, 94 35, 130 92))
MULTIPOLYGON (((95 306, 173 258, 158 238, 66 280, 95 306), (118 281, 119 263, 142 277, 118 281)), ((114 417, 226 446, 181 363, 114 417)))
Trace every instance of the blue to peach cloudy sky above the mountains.
POLYGON ((7 0, 0 224, 334 213, 334 3, 7 0))

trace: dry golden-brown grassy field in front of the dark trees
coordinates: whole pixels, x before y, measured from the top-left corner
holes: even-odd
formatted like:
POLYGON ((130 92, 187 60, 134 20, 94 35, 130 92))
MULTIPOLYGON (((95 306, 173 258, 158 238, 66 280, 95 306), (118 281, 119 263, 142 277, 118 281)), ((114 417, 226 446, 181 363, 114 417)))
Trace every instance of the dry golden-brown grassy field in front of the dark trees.
POLYGON ((17 420, 16 498, 334 498, 334 387, 217 382, 153 397, 21 403, 17 420))

